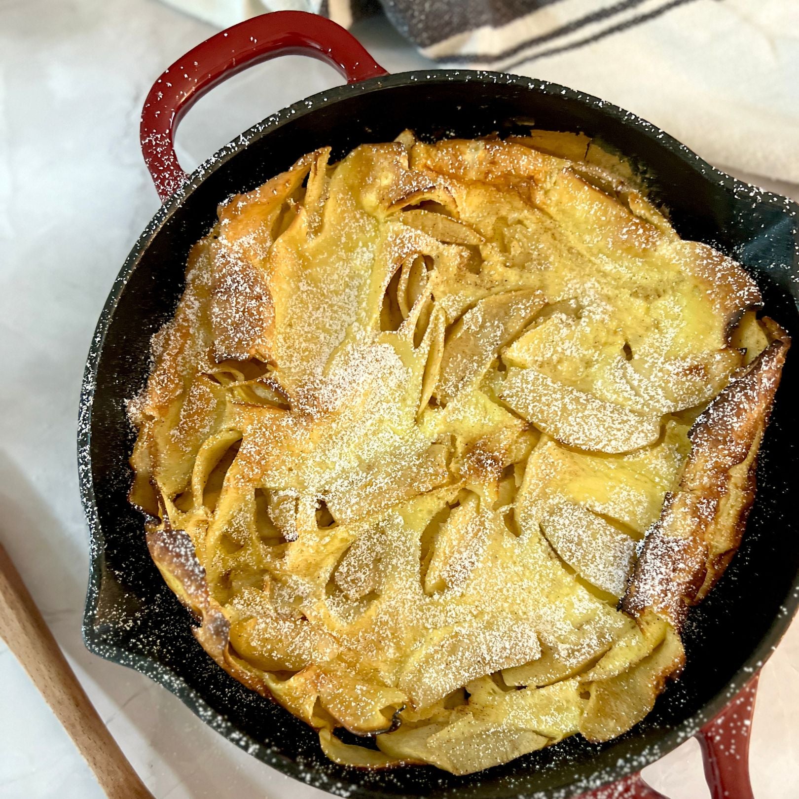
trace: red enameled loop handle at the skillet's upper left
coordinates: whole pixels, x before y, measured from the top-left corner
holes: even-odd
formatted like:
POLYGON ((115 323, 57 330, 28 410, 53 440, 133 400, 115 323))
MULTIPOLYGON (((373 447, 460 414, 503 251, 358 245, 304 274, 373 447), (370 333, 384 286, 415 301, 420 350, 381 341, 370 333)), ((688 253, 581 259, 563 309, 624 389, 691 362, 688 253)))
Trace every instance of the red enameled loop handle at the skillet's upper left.
POLYGON ((161 201, 187 177, 174 147, 181 117, 217 83, 278 55, 318 58, 348 83, 388 74, 347 30, 303 11, 261 14, 206 39, 155 81, 141 111, 141 152, 161 201))

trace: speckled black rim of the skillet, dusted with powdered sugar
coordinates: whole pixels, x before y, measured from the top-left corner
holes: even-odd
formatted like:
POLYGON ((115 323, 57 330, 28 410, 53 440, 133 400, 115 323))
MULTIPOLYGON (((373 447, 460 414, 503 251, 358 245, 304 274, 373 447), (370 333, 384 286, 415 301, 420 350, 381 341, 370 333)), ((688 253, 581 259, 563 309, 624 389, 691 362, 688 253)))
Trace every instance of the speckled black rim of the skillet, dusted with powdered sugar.
MULTIPOLYGON (((720 186, 729 194, 735 205, 741 205, 742 213, 752 213, 757 205, 768 205, 781 211, 785 216, 793 218, 799 217, 799 205, 786 197, 781 197, 772 192, 758 189, 744 181, 734 178, 720 169, 704 161, 686 145, 662 131, 652 123, 630 113, 617 105, 603 101, 593 95, 580 92, 576 89, 569 89, 562 85, 543 81, 537 78, 526 78, 519 75, 504 74, 483 70, 415 70, 396 74, 381 75, 375 78, 368 78, 354 84, 336 86, 332 89, 316 93, 311 97, 297 101, 284 109, 266 117, 263 121, 257 122, 249 129, 241 133, 238 137, 230 141, 227 145, 203 161, 189 175, 185 183, 178 189, 161 208, 157 210, 149 224, 138 237, 129 255, 125 259, 120 272, 113 281, 109 291, 109 296, 105 300, 97 326, 93 332, 89 355, 86 360, 83 381, 81 384, 81 395, 78 413, 78 477, 81 491, 81 503, 89 527, 89 583, 87 587, 85 610, 82 620, 82 634, 86 648, 93 654, 102 658, 117 662, 124 666, 137 670, 141 674, 153 679, 154 682, 161 684, 171 693, 175 694, 194 714, 197 714, 203 721, 216 729, 217 732, 225 735, 229 741, 245 749, 248 753, 256 756, 260 761, 272 765, 280 772, 294 777, 298 781, 316 785, 320 789, 330 791, 335 787, 329 775, 319 771, 309 772, 296 759, 291 759, 281 753, 276 753, 256 739, 250 737, 238 729, 232 722, 228 721, 217 710, 214 710, 197 691, 185 682, 176 672, 165 666, 155 658, 138 654, 135 651, 127 650, 122 646, 109 645, 103 639, 101 633, 97 631, 94 622, 97 618, 98 598, 100 586, 105 570, 105 534, 102 530, 97 510, 98 500, 93 487, 92 476, 92 410, 94 392, 97 387, 97 367, 105 344, 105 335, 109 324, 113 319, 113 314, 117 309, 121 293, 127 284, 129 276, 133 273, 139 261, 144 256, 149 244, 161 231, 164 225, 181 209, 183 202, 211 173, 223 168, 228 161, 245 149, 250 143, 260 139, 273 129, 280 127, 284 122, 296 119, 299 115, 313 113, 318 108, 329 105, 345 97, 358 93, 372 93, 380 89, 391 89, 400 85, 412 85, 414 83, 424 85, 425 82, 439 82, 443 85, 448 83, 465 83, 468 81, 480 81, 483 83, 518 85, 534 93, 542 93, 555 97, 563 97, 571 101, 578 101, 588 107, 593 113, 599 113, 610 117, 616 117, 624 125, 637 128, 646 137, 656 140, 658 146, 667 149, 670 153, 678 156, 690 169, 698 173, 706 182, 720 186), (326 786, 312 781, 312 777, 322 779, 326 786)), ((796 254, 794 256, 794 266, 799 263, 799 225, 794 225, 794 236, 797 237, 796 254)), ((793 301, 799 306, 799 296, 793 294, 793 301)), ((100 500, 102 501, 102 499, 100 500)), ((757 502, 757 500, 756 500, 757 502)), ((785 630, 793 619, 794 614, 799 609, 799 572, 797 572, 788 594, 783 598, 780 610, 775 614, 769 624, 768 630, 761 638, 751 654, 746 658, 743 666, 727 682, 726 686, 718 691, 714 697, 710 698, 697 713, 686 718, 684 721, 671 727, 670 729, 658 730, 654 733, 658 745, 644 745, 637 753, 630 754, 623 759, 616 761, 610 769, 606 769, 598 775, 594 775, 594 780, 584 784, 586 777, 579 777, 570 785, 562 785, 552 789, 544 789, 544 793, 558 792, 559 797, 576 796, 577 793, 586 789, 596 788, 599 785, 607 785, 617 781, 630 773, 639 771, 650 763, 658 760, 666 753, 675 749, 682 742, 692 737, 708 721, 717 716, 727 705, 738 691, 752 678, 753 674, 763 666, 765 660, 777 647, 785 630)), ((288 711, 287 711, 288 712, 288 711)), ((590 777, 588 777, 590 780, 590 777)), ((360 782, 352 782, 351 785, 340 785, 340 790, 348 796, 364 797, 364 799, 377 799, 386 797, 388 794, 379 790, 373 790, 368 785, 360 782)), ((539 795, 539 794, 537 794, 539 795)), ((407 799, 415 799, 418 794, 407 794, 407 799)), ((522 794, 519 794, 521 797, 522 794)), ((392 794, 395 799, 400 799, 400 794, 392 794)))

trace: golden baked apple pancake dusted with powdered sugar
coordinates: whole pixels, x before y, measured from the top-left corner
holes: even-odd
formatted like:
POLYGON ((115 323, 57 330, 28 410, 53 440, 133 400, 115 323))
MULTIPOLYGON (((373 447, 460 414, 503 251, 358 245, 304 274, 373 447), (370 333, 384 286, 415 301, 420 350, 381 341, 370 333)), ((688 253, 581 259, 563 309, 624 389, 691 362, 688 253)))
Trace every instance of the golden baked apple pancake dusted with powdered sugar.
POLYGON ((322 148, 193 247, 131 501, 208 654, 333 760, 606 741, 741 541, 760 307, 582 135, 322 148))

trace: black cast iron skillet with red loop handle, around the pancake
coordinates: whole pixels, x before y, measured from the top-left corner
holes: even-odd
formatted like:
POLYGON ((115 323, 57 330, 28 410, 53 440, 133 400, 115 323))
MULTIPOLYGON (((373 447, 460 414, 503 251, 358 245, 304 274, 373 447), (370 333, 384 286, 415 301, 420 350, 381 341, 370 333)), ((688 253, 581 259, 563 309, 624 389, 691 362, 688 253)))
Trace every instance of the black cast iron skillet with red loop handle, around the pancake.
MULTIPOLYGON (((433 768, 361 772, 328 761, 316 733, 225 674, 193 638, 189 614, 165 586, 129 506, 133 429, 125 400, 149 372, 149 339, 173 313, 189 247, 217 203, 256 188, 322 145, 333 157, 406 127, 422 137, 543 129, 583 131, 634 160, 682 237, 713 244, 755 276, 769 315, 799 340, 797 205, 713 169, 646 121, 572 89, 514 75, 431 70, 388 75, 346 31, 299 12, 268 14, 217 34, 153 86, 142 147, 164 205, 134 245, 103 308, 81 394, 81 492, 91 568, 83 632, 89 650, 148 674, 260 760, 352 797, 570 797, 641 769, 713 718, 761 666, 799 604, 799 529, 791 488, 797 455, 797 369, 789 358, 761 449, 757 502, 741 550, 710 598, 690 614, 687 666, 645 721, 603 745, 571 737, 467 777, 433 768), (249 63, 304 53, 348 85, 274 114, 185 176, 173 150, 183 111, 249 63)), ((719 135, 723 135, 719 131, 719 135)), ((641 794, 643 795, 643 794, 641 794)), ((650 794, 651 795, 651 794, 650 794)))

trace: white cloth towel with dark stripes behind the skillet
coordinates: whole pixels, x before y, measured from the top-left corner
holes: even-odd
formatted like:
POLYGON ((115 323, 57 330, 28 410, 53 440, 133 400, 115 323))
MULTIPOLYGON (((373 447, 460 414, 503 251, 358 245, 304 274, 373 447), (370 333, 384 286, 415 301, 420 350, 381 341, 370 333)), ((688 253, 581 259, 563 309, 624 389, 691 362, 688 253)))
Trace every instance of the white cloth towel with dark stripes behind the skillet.
POLYGON ((384 12, 442 66, 546 78, 630 109, 707 160, 799 183, 799 0, 166 0, 218 26, 384 12))

